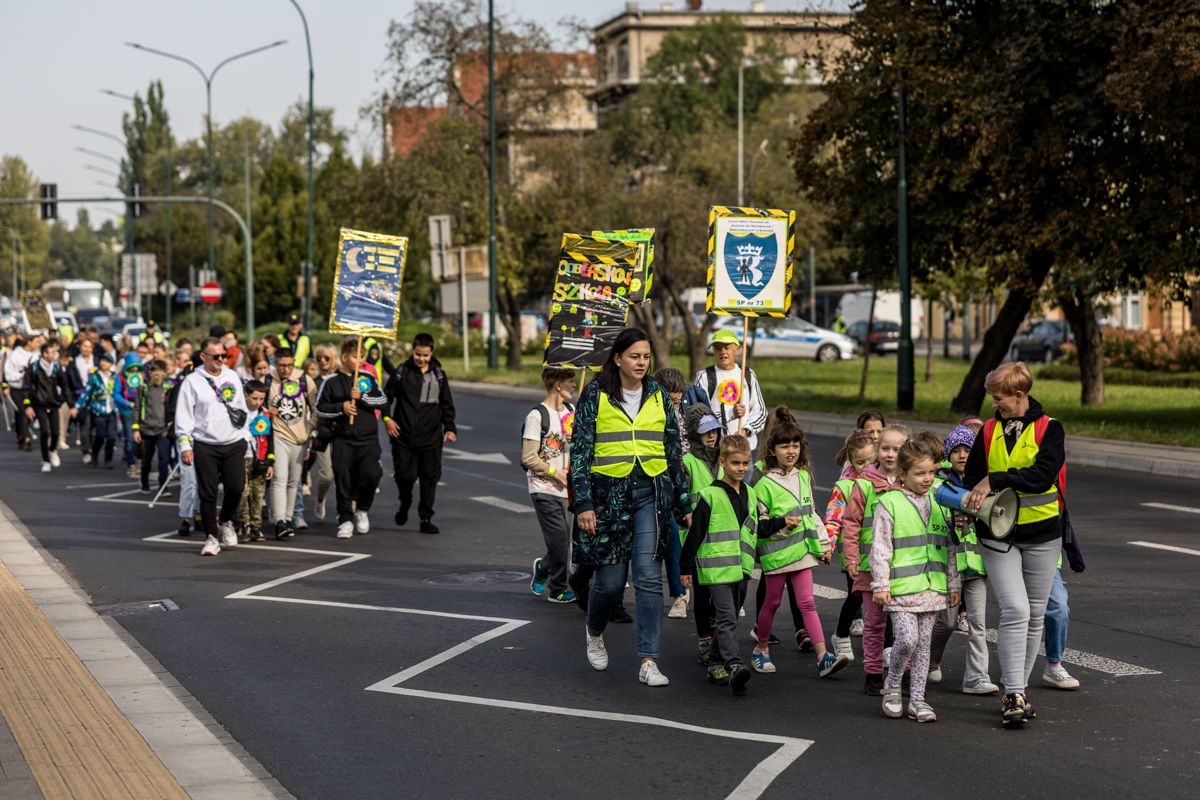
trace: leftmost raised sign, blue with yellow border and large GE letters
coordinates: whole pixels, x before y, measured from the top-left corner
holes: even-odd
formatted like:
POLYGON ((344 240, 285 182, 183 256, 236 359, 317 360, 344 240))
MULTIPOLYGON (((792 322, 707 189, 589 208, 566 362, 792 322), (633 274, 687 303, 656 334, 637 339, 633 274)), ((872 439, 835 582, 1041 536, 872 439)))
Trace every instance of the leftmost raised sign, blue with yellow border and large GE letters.
POLYGON ((337 252, 329 332, 395 339, 408 239, 342 228, 337 252))

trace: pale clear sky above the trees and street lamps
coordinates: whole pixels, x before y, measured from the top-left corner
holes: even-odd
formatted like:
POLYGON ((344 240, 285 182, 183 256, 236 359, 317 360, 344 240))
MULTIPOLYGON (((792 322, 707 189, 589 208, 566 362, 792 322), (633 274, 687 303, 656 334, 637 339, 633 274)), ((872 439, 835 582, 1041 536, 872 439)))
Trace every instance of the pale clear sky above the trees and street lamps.
MULTIPOLYGON (((684 4, 676 0, 676 7, 684 4)), ((312 36, 317 106, 335 108, 337 124, 352 131, 355 157, 365 148, 378 154, 378 134, 359 120, 358 112, 380 89, 377 76, 384 62, 388 25, 408 18, 413 0, 300 0, 300 5, 312 36)), ((704 5, 749 8, 750 0, 708 0, 704 5)), ((809 4, 770 0, 768 7, 798 5, 809 4)), ((554 29, 564 17, 595 24, 624 4, 497 0, 496 7, 498 13, 515 13, 554 29)), ((120 158, 121 145, 70 127, 76 124, 120 136, 121 114, 131 104, 101 94, 101 89, 144 96, 149 82, 161 79, 176 140, 202 136, 204 125, 200 76, 186 64, 134 50, 125 42, 175 53, 211 71, 230 55, 277 40, 288 43, 233 61, 217 73, 212 82, 212 119, 217 124, 251 114, 277 125, 289 104, 307 97, 304 28, 289 0, 8 0, 0 42, 0 154, 22 156, 42 181, 59 185, 60 197, 110 194, 116 190, 96 181, 115 179, 85 164, 114 172, 115 164, 74 148, 120 158)), ((74 207, 59 206, 59 216, 73 222, 74 207)), ((107 207, 120 211, 119 204, 107 207)), ((95 207, 90 211, 92 224, 113 216, 95 207)))

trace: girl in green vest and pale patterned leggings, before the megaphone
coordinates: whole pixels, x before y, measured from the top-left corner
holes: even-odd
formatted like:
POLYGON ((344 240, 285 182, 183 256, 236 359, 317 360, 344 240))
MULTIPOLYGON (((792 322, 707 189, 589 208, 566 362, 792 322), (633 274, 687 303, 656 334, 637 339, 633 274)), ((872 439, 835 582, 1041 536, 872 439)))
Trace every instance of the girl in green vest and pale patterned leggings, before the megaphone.
POLYGON ((871 531, 871 600, 888 612, 895 631, 883 681, 883 712, 889 717, 904 712, 900 684, 911 662, 908 717, 917 722, 937 720, 925 702, 930 638, 938 612, 959 604, 961 585, 950 558, 949 513, 929 491, 941 456, 918 439, 900 447, 900 491, 880 498, 871 531))

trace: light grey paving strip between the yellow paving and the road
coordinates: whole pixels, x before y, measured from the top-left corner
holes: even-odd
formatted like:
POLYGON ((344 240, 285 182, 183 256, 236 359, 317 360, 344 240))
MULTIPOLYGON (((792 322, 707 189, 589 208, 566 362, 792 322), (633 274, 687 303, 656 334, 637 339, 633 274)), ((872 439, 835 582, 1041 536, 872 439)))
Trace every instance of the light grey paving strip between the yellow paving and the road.
POLYGON ((294 800, 0 501, 0 559, 193 800, 294 800), (168 682, 169 681, 169 682, 168 682))

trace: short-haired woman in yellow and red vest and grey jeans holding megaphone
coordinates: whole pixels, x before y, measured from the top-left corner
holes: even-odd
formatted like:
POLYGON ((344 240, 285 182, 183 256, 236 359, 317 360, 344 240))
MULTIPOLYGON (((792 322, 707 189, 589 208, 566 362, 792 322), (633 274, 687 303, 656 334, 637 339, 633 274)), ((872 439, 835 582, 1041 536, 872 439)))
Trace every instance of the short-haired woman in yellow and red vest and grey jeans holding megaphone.
POLYGON ((1020 498, 1016 525, 1003 542, 989 541, 982 522, 980 553, 996 600, 996 648, 1004 681, 1004 722, 1036 718, 1025 687, 1042 644, 1050 588, 1062 552, 1058 483, 1066 459, 1062 423, 1030 397, 1033 377, 1024 362, 988 373, 984 387, 996 416, 984 423, 967 457, 964 507, 978 512, 992 492, 1010 488, 1020 498))

